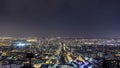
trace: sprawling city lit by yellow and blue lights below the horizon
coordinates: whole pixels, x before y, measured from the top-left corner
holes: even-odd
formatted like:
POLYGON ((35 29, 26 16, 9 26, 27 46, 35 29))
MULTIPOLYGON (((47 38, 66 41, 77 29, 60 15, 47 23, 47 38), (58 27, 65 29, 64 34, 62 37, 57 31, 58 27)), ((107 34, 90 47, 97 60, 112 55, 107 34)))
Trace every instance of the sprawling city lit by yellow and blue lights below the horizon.
POLYGON ((0 37, 0 68, 27 66, 119 68, 120 39, 0 37))

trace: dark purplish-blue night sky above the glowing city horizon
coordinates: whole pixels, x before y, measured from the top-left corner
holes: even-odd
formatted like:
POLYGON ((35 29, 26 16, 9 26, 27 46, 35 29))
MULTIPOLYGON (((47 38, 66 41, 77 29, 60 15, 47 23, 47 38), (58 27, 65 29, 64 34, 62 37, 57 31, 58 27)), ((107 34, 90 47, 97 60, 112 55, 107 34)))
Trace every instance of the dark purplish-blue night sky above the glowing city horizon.
POLYGON ((120 0, 0 0, 0 36, 119 37, 120 0))

